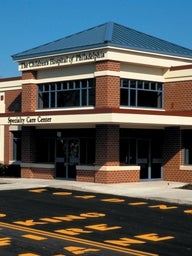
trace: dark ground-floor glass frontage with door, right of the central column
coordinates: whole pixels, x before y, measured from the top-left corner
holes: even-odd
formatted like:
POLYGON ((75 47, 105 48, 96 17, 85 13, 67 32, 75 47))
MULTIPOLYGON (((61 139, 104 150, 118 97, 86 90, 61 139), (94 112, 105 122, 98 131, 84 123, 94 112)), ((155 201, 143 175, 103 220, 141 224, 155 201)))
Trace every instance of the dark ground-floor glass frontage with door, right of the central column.
POLYGON ((140 166, 140 179, 160 179, 162 177, 162 135, 162 131, 122 130, 121 165, 140 166))

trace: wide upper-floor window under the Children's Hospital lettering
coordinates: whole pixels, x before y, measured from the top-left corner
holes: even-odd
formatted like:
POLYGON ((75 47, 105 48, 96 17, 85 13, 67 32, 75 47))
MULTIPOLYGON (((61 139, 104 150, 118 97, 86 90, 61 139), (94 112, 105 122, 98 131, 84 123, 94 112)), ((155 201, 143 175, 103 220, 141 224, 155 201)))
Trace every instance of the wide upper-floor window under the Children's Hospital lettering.
POLYGON ((95 105, 95 80, 84 79, 40 84, 38 108, 66 108, 95 105))

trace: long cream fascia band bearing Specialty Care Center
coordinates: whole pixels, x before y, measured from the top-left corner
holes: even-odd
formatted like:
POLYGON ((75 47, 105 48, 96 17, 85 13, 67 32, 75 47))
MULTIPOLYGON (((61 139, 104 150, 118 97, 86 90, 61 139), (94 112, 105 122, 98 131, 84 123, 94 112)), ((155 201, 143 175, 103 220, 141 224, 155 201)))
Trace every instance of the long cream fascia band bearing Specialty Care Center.
POLYGON ((0 117, 0 125, 86 125, 86 124, 118 124, 147 127, 181 126, 192 127, 192 117, 127 114, 127 113, 101 113, 101 114, 74 114, 74 115, 36 115, 36 116, 13 116, 0 117))

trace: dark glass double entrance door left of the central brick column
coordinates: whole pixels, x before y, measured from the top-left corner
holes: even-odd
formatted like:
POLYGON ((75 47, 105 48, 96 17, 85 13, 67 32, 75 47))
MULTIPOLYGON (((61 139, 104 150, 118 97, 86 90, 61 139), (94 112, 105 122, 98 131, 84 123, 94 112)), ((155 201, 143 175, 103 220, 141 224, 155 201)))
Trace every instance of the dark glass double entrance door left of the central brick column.
POLYGON ((75 179, 79 155, 78 139, 58 138, 56 142, 56 177, 75 179))

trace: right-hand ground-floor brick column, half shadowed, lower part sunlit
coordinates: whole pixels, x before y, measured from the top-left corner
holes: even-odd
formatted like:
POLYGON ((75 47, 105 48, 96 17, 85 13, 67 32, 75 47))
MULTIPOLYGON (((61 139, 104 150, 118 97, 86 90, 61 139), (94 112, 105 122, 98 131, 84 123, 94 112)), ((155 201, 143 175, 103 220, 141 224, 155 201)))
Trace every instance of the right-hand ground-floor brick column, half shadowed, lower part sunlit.
POLYGON ((163 179, 168 181, 181 180, 181 131, 179 127, 165 128, 163 150, 163 179))

